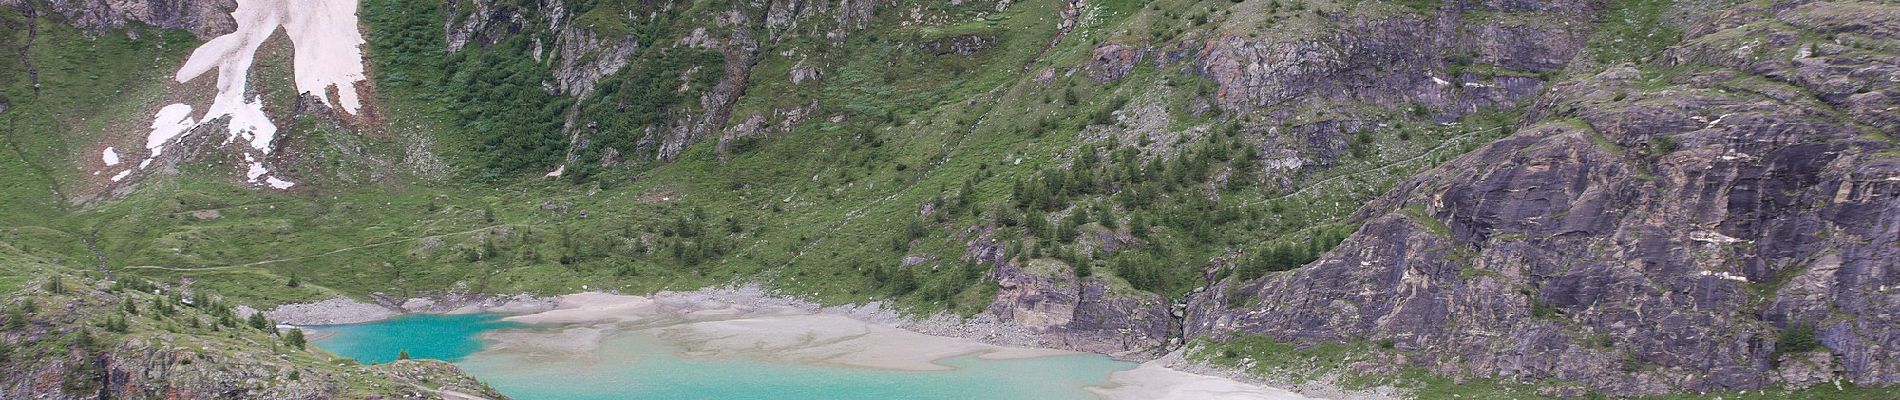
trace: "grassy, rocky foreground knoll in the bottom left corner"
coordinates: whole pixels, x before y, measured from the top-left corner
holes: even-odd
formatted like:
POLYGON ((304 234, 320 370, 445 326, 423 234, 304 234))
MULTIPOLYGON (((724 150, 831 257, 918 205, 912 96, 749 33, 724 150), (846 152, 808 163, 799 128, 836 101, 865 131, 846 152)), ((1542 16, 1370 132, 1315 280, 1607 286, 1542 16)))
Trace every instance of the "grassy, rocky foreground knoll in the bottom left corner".
POLYGON ((217 294, 101 281, 0 243, 6 398, 505 398, 456 366, 357 366, 217 294))

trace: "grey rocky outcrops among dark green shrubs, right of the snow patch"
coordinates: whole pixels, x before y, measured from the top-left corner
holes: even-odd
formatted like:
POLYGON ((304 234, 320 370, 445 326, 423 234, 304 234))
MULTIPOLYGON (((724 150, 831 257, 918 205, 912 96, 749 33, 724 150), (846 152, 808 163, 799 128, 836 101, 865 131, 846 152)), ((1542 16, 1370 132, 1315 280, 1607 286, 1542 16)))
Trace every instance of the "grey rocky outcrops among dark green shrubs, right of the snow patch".
MULTIPOLYGON (((606 19, 635 19, 618 21, 625 25, 656 23, 646 21, 654 19, 654 15, 646 13, 671 13, 669 8, 676 4, 648 6, 656 6, 656 9, 636 13, 627 11, 625 17, 610 15, 606 19)), ((846 15, 842 15, 838 23, 863 25, 863 19, 868 19, 868 2, 846 2, 842 6, 846 8, 842 9, 846 15)), ((589 95, 595 93, 602 80, 610 80, 629 64, 674 63, 661 61, 659 55, 654 55, 656 51, 642 51, 652 44, 640 44, 638 32, 629 28, 598 28, 593 23, 581 21, 589 17, 589 13, 572 11, 566 2, 559 0, 538 2, 538 8, 532 11, 490 0, 458 2, 448 4, 446 8, 446 51, 462 51, 469 45, 490 45, 513 36, 528 36, 534 44, 536 61, 543 61, 549 66, 549 80, 543 82, 547 93, 572 97, 576 102, 589 100, 589 95)), ((589 8, 593 6, 589 4, 589 8)), ((591 11, 598 13, 600 9, 591 11)), ((796 21, 828 15, 823 4, 815 8, 802 8, 796 2, 749 2, 733 4, 730 9, 703 13, 711 13, 711 17, 701 28, 682 34, 680 38, 659 36, 652 40, 661 40, 661 47, 674 47, 669 51, 718 51, 724 57, 724 68, 707 72, 718 76, 718 80, 703 91, 686 93, 692 97, 686 100, 688 104, 676 106, 678 110, 669 112, 663 123, 640 127, 635 133, 604 133, 598 129, 597 121, 570 112, 564 127, 570 136, 566 161, 576 161, 578 152, 595 146, 593 142, 598 135, 638 136, 638 148, 602 150, 602 154, 614 154, 614 157, 604 157, 604 163, 618 163, 621 159, 619 154, 642 154, 652 155, 652 159, 671 161, 678 157, 686 146, 692 146, 697 140, 709 136, 718 138, 732 114, 733 102, 737 102, 745 93, 750 68, 758 59, 758 38, 754 38, 754 32, 758 28, 768 28, 773 34, 779 34, 785 28, 794 28, 796 21), (707 28, 712 30, 709 32, 707 28)), ((680 76, 680 80, 682 87, 690 85, 684 76, 680 76)), ((614 100, 606 100, 606 104, 612 102, 614 100)))

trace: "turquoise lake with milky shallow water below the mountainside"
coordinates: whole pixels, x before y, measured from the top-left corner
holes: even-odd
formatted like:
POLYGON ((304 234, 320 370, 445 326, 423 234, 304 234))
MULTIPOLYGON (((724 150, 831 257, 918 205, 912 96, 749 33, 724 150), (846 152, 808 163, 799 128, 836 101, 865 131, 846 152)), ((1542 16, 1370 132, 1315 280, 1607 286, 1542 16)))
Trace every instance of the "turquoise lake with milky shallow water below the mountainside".
POLYGON ((773 362, 747 356, 682 356, 656 336, 616 332, 593 356, 540 356, 483 351, 483 332, 522 328, 502 315, 408 315, 369 324, 317 326, 315 345, 359 362, 390 362, 408 351, 462 366, 519 400, 638 400, 638 398, 1094 398, 1083 387, 1134 368, 1102 355, 1020 360, 958 356, 944 372, 897 372, 821 364, 773 362))

